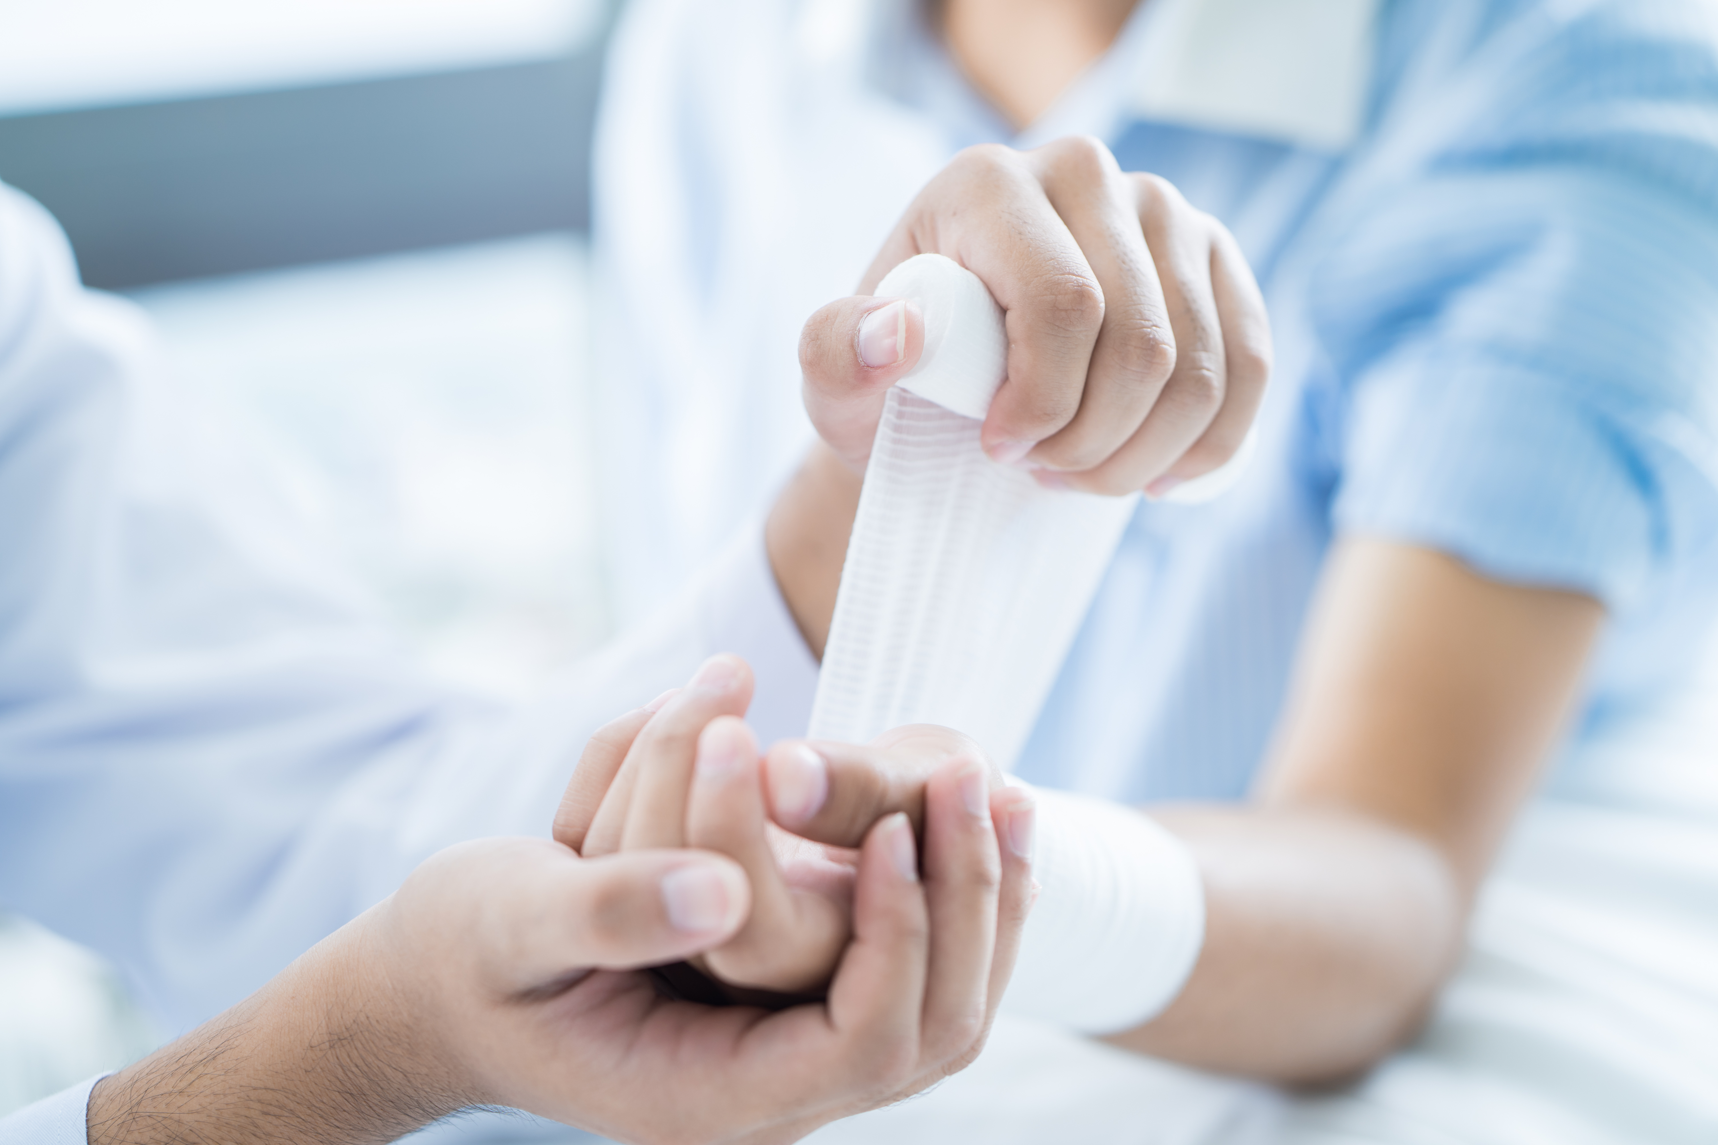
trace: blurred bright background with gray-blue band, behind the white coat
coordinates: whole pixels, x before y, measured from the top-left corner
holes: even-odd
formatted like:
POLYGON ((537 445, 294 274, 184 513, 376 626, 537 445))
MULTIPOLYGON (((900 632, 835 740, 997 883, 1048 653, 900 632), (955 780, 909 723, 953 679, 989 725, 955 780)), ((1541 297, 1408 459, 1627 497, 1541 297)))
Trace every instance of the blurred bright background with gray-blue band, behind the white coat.
MULTIPOLYGON (((519 695, 612 627, 588 170, 610 0, 0 0, 0 180, 144 306, 433 671, 519 695)), ((0 915, 0 1114, 143 1054, 0 915)))

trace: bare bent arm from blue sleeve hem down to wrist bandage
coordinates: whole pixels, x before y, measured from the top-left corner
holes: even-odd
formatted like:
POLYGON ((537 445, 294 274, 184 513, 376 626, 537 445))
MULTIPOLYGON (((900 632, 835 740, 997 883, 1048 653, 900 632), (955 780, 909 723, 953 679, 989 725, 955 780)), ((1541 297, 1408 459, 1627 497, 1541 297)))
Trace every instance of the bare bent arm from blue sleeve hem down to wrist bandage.
POLYGON ((1252 802, 1153 809, 1199 860, 1206 946, 1182 996, 1115 1040, 1319 1081, 1410 1035, 1601 620, 1584 596, 1338 542, 1252 802))

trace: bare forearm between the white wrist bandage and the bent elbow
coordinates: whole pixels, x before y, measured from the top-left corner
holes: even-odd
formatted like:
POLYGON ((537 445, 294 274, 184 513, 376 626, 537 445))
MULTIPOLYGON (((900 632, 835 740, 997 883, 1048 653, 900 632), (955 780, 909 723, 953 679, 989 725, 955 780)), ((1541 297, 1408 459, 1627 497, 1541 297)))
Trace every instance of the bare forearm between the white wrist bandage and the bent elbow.
POLYGON ((1440 853, 1347 815, 1172 807, 1206 884, 1206 941, 1185 989, 1112 1042, 1283 1083, 1340 1080, 1424 1018, 1465 906, 1440 853))

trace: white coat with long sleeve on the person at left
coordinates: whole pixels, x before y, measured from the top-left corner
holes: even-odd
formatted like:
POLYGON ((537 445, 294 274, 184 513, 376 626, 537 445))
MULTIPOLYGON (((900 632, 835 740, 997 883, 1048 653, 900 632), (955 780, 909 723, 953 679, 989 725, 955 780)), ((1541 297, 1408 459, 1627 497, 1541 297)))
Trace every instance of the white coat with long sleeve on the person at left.
MULTIPOLYGON (((804 730, 816 664, 756 527, 515 709, 419 678, 218 445, 141 314, 0 187, 0 905, 172 1030, 442 846, 546 834, 586 736, 711 652, 752 663, 761 735, 804 730)), ((0 1121, 43 1140, 82 1140, 76 1094, 0 1121)))

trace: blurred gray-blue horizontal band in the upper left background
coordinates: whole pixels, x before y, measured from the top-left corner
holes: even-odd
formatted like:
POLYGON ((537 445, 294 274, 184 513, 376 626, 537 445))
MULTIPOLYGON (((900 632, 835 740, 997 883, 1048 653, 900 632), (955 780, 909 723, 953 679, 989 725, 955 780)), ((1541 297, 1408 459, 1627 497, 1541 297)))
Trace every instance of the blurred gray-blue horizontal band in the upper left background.
POLYGON ((94 287, 555 228, 589 213, 606 36, 551 62, 0 117, 0 180, 94 287))

